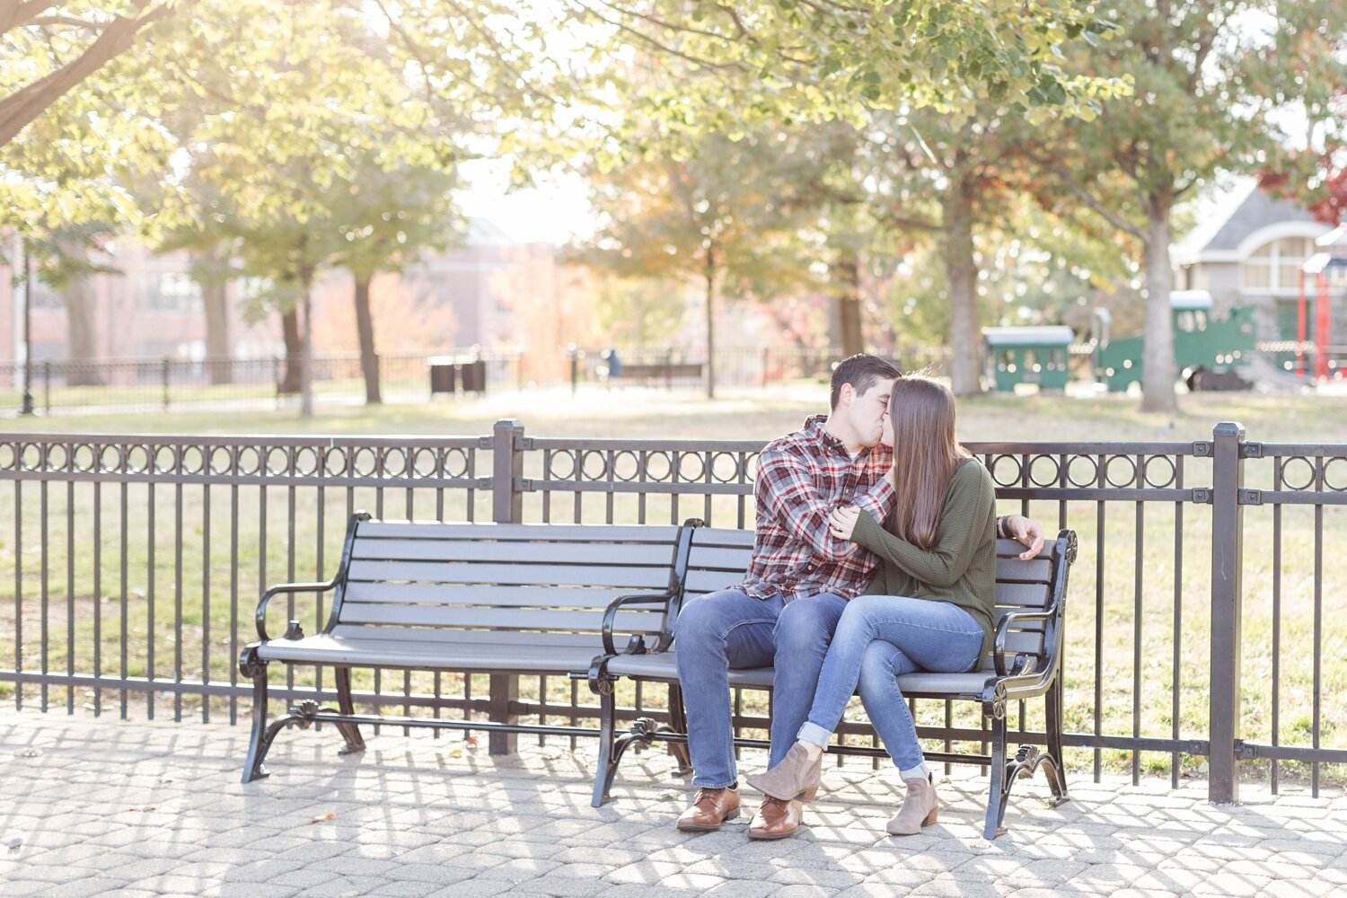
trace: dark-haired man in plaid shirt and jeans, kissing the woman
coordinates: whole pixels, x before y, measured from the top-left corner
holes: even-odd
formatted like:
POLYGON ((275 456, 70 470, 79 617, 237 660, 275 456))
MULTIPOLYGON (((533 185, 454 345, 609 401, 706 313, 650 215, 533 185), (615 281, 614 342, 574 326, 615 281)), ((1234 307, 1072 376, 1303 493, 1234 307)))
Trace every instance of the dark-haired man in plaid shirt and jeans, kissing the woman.
MULTIPOLYGON (((867 549, 832 537, 828 516, 857 505, 884 520, 893 508, 893 486, 885 477, 893 450, 881 438, 898 376, 874 355, 853 355, 838 365, 830 415, 811 417, 758 456, 757 533, 744 582, 688 602, 679 615, 678 672, 698 786, 695 802, 678 819, 684 832, 718 829, 740 813, 729 668, 775 665, 769 769, 808 716, 838 618, 878 567, 867 549)), ((997 530, 1033 555, 1043 545, 1041 529, 1024 517, 999 518, 997 530)), ((799 801, 764 796, 749 837, 792 835, 800 810, 799 801)))

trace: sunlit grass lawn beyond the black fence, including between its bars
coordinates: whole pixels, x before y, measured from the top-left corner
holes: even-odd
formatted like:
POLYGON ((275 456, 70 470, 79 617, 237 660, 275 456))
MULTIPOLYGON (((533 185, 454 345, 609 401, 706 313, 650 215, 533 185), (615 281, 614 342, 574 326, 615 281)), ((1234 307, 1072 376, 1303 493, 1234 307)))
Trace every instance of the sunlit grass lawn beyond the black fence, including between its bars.
MULTIPOLYGON (((532 436, 769 439, 795 429, 808 415, 823 411, 826 403, 826 390, 815 384, 729 390, 715 401, 651 389, 587 389, 574 399, 568 390, 536 390, 376 409, 321 405, 318 415, 307 421, 287 408, 55 416, 11 420, 7 429, 11 434, 478 435, 490 432, 498 419, 515 417, 532 436)), ((1226 420, 1245 424, 1250 440, 1347 444, 1347 396, 1185 396, 1176 416, 1142 415, 1136 400, 1117 396, 979 397, 960 403, 960 436, 970 442, 1207 440, 1212 425, 1226 420)), ((1185 485, 1208 482, 1204 478, 1210 478, 1210 467, 1196 463, 1197 459, 1189 462, 1185 485)), ((1347 460, 1334 464, 1347 469, 1347 460)), ((1268 462, 1250 460, 1247 485, 1268 485, 1269 473, 1268 462)), ((1339 479, 1347 482, 1347 477, 1339 479)), ((57 482, 46 489, 35 482, 4 486, 0 520, 13 520, 19 499, 23 513, 22 528, 0 528, 0 665, 13 668, 20 661, 15 637, 22 626, 24 669, 44 665, 58 672, 67 666, 92 670, 97 644, 102 669, 119 672, 125 621, 128 675, 228 681, 237 646, 252 638, 251 618, 260 588, 279 580, 330 576, 348 505, 376 510, 383 504, 383 513, 389 517, 404 516, 408 501, 414 501, 412 516, 430 517, 435 510, 434 497, 411 497, 407 490, 384 497, 373 490, 331 487, 322 490, 319 514, 319 493, 314 487, 284 486, 240 487, 234 494, 229 486, 207 490, 164 483, 151 490, 141 483, 102 485, 94 514, 94 487, 88 482, 74 486, 57 482), (39 517, 43 502, 46 532, 39 517), (123 505, 128 516, 125 539, 123 505), (232 532, 236 524, 237 537, 232 532), (16 537, 22 537, 20 584, 15 576, 16 537), (237 567, 232 563, 234 556, 237 567), (16 586, 22 586, 18 602, 16 586)), ((603 520, 603 501, 602 495, 586 497, 585 520, 603 520)), ((445 502, 446 517, 466 513, 465 495, 450 495, 445 502)), ((489 497, 477 495, 474 506, 480 517, 489 514, 488 502, 489 497)), ((726 502, 731 501, 718 499, 718 518, 730 508, 726 502)), ((563 508, 554 509, 554 520, 568 518, 570 495, 558 505, 563 508)), ((525 508, 533 509, 527 510, 529 520, 537 520, 536 506, 525 508)), ((652 499, 647 520, 667 520, 664 508, 652 499)), ((692 499, 686 513, 695 514, 699 509, 700 499, 692 499)), ((1002 510, 1018 508, 1006 504, 1002 510)), ((1068 730, 1204 738, 1212 563, 1208 508, 1172 502, 1119 501, 1105 508, 1095 502, 1065 506, 1041 502, 1030 513, 1049 530, 1064 517, 1082 541, 1072 574, 1067 630, 1068 730), (1180 557, 1181 569, 1176 564, 1180 557)), ((636 520, 633 502, 620 501, 613 516, 617 521, 636 520)), ((1321 512, 1308 506, 1282 509, 1277 556, 1274 517, 1268 506, 1246 512, 1243 736, 1272 742, 1276 732, 1285 745, 1312 745, 1317 728, 1320 745, 1342 746, 1344 736, 1338 722, 1347 720, 1347 658, 1325 649, 1347 640, 1347 560, 1332 548, 1347 540, 1347 512, 1342 506, 1321 512), (1276 613, 1274 586, 1280 591, 1276 613), (1274 665, 1276 726, 1270 685, 1274 665)), ((731 524, 733 518, 717 522, 731 524)), ((292 610, 277 611, 271 622, 273 631, 283 629, 283 618, 288 617, 304 621, 308 631, 321 621, 307 596, 292 610)), ((311 672, 299 672, 298 679, 314 677, 311 672)), ((385 688, 389 681, 396 688, 404 683, 401 675, 383 680, 385 688)), ((365 685, 372 685, 369 677, 365 685)), ((414 677, 409 685, 432 688, 428 676, 414 677)), ((463 689, 461 677, 446 677, 442 685, 446 693, 463 689)), ((484 688, 473 685, 474 695, 482 695, 484 688)), ((523 684, 525 695, 537 695, 544 688, 550 700, 560 703, 568 701, 572 692, 572 684, 564 680, 523 684)), ((12 685, 0 684, 3 692, 12 692, 12 685)), ((645 699, 657 701, 655 692, 647 691, 645 699)), ((36 689, 27 687, 24 693, 32 700, 36 689)), ((586 689, 578 695, 589 700, 586 689)), ((54 703, 67 699, 55 688, 48 697, 54 703)), ((90 696, 70 699, 77 704, 92 701, 90 696)), ((750 695, 749 700, 756 699, 750 695)), ((133 707, 144 701, 144 696, 132 696, 133 707)), ((172 700, 167 704, 171 708, 172 700)), ((197 708, 198 699, 183 699, 186 714, 197 708)), ((943 708, 919 708, 919 716, 938 723, 943 708)), ((975 723, 971 718, 966 720, 975 723)), ((1033 726, 1034 719, 1028 723, 1033 726)), ((1083 749, 1072 750, 1068 759, 1078 771, 1088 771, 1098 761, 1105 770, 1142 774, 1165 773, 1173 763, 1164 753, 1133 757, 1105 750, 1095 755, 1083 749)), ((1199 765, 1200 758, 1179 758, 1181 771, 1199 765)), ((1246 763, 1246 767, 1258 774, 1268 765, 1246 763)), ((1304 775, 1308 767, 1282 765, 1282 770, 1304 775)), ((1347 778, 1336 766, 1325 766, 1323 775, 1332 781, 1347 778)))

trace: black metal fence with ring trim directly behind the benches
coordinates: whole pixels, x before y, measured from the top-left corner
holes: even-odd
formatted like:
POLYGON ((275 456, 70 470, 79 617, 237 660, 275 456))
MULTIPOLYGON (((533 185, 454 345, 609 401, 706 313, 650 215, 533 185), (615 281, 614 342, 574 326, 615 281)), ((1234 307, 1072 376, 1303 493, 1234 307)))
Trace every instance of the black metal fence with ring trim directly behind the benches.
MULTIPOLYGON (((257 595, 322 580, 345 520, 753 525, 757 440, 535 438, 513 421, 453 438, 0 438, 0 692, 19 707, 224 716, 248 691, 234 660, 257 595), (4 486, 3 482, 8 482, 4 486)), ((1347 767, 1347 446, 1249 442, 1234 424, 1193 443, 971 444, 1002 512, 1080 536, 1063 669, 1068 766, 1134 780, 1239 770, 1305 778, 1347 767)), ((315 596, 288 618, 321 626, 315 596)), ((283 700, 331 699, 291 669, 283 700)), ((385 675, 361 701, 485 714, 478 676, 385 675)), ((630 716, 665 696, 624 695, 630 716)), ((591 719, 587 691, 528 677, 515 711, 591 719)), ((735 697, 741 731, 766 705, 735 697)), ((982 722, 919 703, 924 738, 978 742, 982 722)), ((1017 738, 1043 740, 1026 708, 1017 738)), ((863 727, 845 738, 870 738, 863 727)))

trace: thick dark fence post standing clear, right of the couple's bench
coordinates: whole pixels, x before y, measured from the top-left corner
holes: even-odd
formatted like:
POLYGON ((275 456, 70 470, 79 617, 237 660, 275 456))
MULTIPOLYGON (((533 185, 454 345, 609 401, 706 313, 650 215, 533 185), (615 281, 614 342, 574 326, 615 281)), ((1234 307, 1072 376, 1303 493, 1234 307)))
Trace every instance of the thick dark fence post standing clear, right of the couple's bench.
POLYGON ((1243 424, 1222 421, 1212 431, 1211 504, 1211 738, 1207 800, 1239 801, 1241 605, 1243 600, 1245 485, 1243 424))

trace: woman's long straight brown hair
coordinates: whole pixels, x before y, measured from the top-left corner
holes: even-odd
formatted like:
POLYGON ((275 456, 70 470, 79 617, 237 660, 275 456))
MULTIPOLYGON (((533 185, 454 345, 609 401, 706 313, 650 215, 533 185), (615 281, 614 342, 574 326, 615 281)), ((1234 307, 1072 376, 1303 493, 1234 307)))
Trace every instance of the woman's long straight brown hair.
POLYGON ((900 377, 889 400, 897 505, 885 521, 900 540, 929 551, 940 529, 944 491, 968 451, 954 436, 954 393, 929 377, 900 377))

